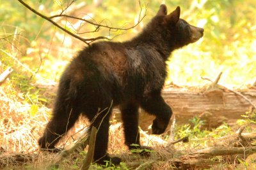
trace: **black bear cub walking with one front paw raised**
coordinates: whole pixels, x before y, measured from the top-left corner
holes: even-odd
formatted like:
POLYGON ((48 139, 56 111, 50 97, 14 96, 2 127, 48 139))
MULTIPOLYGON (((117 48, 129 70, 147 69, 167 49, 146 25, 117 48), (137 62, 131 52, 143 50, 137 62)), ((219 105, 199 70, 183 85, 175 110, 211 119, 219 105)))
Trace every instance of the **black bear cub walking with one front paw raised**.
POLYGON ((97 127, 94 161, 119 164, 120 158, 107 153, 109 117, 115 106, 122 112, 125 145, 130 150, 136 147, 132 144, 147 148, 140 145, 139 107, 156 116, 153 134, 163 133, 172 116, 170 106, 161 97, 165 62, 173 50, 194 43, 204 34, 204 29, 179 17, 179 6, 167 15, 162 4, 147 27, 131 41, 102 41, 84 48, 61 76, 52 118, 39 139, 40 148, 57 151, 56 143, 82 114, 97 127))

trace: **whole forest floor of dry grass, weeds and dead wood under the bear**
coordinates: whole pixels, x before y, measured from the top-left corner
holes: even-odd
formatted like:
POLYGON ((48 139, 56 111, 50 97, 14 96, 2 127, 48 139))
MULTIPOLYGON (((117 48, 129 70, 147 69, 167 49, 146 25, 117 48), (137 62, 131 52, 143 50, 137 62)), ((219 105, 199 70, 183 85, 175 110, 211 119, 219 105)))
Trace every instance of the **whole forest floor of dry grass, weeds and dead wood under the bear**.
MULTIPOLYGON (((59 162, 58 155, 39 150, 37 141, 51 117, 51 104, 29 104, 12 83, 7 80, 0 87, 1 169, 80 169, 88 147, 59 162)), ((142 145, 154 148, 149 157, 134 154, 140 150, 127 150, 116 114, 111 118, 108 152, 123 162, 120 166, 92 164, 90 169, 256 169, 254 112, 244 113, 234 126, 223 122, 207 129, 207 122, 194 117, 187 124, 171 122, 161 136, 150 134, 150 127, 140 129, 142 145)), ((86 118, 79 118, 58 147, 72 145, 88 125, 86 118)))

